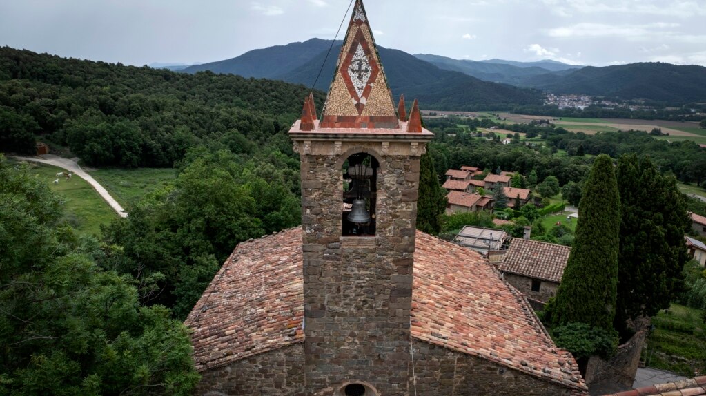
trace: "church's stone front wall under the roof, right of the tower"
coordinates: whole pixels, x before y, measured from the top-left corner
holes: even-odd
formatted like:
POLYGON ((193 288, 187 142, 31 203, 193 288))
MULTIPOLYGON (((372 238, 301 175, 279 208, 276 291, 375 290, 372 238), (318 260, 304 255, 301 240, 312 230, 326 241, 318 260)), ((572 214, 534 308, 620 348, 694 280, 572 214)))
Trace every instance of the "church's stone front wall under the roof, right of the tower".
MULTIPOLYGON (((413 345, 417 395, 572 395, 570 388, 485 359, 419 340, 414 340, 413 345)), ((411 374, 409 389, 414 394, 411 374)))

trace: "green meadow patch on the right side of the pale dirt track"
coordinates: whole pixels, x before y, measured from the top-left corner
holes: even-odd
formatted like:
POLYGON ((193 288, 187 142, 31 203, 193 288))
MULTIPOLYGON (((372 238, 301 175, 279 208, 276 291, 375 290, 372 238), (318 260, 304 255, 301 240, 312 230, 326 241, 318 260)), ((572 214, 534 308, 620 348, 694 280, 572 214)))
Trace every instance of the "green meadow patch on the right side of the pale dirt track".
POLYGON ((90 175, 126 207, 157 187, 177 178, 177 171, 172 168, 102 168, 90 172, 90 175))

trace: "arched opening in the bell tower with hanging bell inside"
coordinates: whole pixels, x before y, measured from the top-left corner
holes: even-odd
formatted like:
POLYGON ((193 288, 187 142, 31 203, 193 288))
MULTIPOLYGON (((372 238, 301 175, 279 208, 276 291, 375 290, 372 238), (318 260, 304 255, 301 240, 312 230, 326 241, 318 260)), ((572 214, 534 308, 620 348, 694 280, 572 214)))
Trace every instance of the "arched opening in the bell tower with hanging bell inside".
POLYGON ((375 235, 380 163, 367 153, 356 153, 343 163, 342 235, 375 235))

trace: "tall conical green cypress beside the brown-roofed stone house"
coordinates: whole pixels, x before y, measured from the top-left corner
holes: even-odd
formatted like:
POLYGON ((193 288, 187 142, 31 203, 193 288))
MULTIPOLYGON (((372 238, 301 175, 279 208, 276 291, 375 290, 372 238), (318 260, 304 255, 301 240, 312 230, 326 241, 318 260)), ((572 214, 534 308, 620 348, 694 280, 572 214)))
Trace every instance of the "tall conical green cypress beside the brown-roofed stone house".
POLYGON ((620 197, 611 158, 596 157, 579 204, 575 240, 556 297, 547 305, 554 326, 587 323, 611 330, 618 284, 620 197))

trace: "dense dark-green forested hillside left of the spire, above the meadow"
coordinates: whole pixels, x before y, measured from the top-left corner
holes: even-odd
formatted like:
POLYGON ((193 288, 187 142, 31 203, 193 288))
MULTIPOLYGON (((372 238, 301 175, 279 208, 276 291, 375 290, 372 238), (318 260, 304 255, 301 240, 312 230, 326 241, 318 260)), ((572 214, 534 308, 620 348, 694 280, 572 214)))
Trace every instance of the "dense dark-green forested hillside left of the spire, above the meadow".
MULTIPOLYGON (((0 147, 32 153, 35 134, 90 165, 171 167, 206 144, 291 153, 285 131, 305 87, 189 75, 0 48, 0 147)), ((319 103, 323 94, 315 93, 319 103)))

